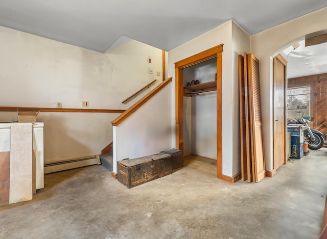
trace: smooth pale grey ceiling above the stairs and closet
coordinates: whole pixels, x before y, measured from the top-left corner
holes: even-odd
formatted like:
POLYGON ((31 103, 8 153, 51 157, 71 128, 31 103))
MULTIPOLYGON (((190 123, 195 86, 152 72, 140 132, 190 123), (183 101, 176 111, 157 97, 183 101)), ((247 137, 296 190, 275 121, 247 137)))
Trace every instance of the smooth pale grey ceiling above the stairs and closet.
POLYGON ((168 51, 229 19, 253 35, 323 7, 326 0, 1 0, 0 25, 99 52, 128 38, 168 51))

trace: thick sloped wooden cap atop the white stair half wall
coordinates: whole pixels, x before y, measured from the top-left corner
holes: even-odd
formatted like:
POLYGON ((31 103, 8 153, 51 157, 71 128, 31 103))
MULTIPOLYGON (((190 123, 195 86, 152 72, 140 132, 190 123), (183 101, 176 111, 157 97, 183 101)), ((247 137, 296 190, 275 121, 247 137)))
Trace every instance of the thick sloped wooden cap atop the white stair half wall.
POLYGON ((159 92, 162 88, 168 85, 172 81, 172 77, 167 78, 165 81, 163 81, 160 85, 158 85, 156 88, 154 88, 152 91, 150 91, 147 95, 145 95, 142 99, 138 100, 135 104, 133 104, 128 110, 126 110, 123 114, 115 118, 113 121, 111 121, 112 126, 117 126, 123 120, 125 120, 128 116, 133 114, 138 108, 140 108, 145 102, 147 102, 149 99, 152 98, 157 92, 159 92))

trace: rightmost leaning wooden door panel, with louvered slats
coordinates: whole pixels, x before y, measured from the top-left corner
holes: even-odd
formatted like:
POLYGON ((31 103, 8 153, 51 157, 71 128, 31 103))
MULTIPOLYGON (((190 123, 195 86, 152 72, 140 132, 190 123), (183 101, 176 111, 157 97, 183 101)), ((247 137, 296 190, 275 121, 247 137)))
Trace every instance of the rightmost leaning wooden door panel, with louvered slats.
POLYGON ((259 60, 252 54, 247 56, 248 83, 249 83, 249 108, 251 128, 251 151, 253 181, 259 182, 266 176, 264 148, 262 138, 262 115, 261 115, 261 93, 260 93, 260 71, 259 60), (254 169, 254 170, 253 170, 254 169))

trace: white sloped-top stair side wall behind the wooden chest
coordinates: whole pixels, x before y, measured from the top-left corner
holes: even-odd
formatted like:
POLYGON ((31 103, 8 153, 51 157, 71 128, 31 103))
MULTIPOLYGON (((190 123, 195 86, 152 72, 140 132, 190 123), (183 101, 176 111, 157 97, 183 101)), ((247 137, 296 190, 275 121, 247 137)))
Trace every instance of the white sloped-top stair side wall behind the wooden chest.
POLYGON ((118 126, 113 127, 113 172, 115 162, 171 149, 170 82, 118 126))

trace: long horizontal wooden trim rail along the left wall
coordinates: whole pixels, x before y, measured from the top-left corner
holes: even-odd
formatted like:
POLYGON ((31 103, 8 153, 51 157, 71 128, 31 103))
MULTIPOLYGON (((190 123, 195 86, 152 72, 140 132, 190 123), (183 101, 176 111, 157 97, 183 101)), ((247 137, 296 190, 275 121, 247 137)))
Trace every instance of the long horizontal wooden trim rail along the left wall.
POLYGON ((41 112, 85 112, 85 113, 124 113, 125 110, 73 109, 73 108, 40 108, 40 107, 7 107, 0 106, 0 111, 41 111, 41 112))

